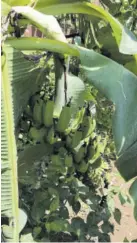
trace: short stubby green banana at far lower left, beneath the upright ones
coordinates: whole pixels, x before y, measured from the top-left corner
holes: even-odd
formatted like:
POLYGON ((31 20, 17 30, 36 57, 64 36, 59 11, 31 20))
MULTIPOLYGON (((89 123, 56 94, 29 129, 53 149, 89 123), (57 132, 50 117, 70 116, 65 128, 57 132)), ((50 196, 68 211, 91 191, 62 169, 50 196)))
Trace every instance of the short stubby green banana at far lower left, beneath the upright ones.
POLYGON ((30 139, 36 142, 44 142, 44 136, 46 134, 45 128, 37 129, 36 127, 31 127, 28 133, 30 139))

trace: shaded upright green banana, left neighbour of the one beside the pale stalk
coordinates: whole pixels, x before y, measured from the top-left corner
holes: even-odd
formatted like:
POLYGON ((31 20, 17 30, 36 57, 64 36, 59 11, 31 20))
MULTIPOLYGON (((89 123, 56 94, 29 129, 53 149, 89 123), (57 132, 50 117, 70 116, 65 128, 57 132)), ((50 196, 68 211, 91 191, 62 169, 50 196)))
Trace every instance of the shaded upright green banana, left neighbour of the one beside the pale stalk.
POLYGON ((42 124, 42 106, 43 100, 37 99, 33 107, 33 119, 39 125, 42 124))

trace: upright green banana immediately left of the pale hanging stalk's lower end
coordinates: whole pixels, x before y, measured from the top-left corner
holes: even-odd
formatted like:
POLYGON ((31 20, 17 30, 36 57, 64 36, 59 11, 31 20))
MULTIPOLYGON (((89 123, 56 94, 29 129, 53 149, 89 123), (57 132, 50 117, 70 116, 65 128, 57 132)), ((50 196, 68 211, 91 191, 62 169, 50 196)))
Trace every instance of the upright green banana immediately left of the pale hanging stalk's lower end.
POLYGON ((43 102, 42 116, 43 123, 46 127, 51 127, 53 125, 53 111, 54 111, 54 101, 47 100, 43 102))

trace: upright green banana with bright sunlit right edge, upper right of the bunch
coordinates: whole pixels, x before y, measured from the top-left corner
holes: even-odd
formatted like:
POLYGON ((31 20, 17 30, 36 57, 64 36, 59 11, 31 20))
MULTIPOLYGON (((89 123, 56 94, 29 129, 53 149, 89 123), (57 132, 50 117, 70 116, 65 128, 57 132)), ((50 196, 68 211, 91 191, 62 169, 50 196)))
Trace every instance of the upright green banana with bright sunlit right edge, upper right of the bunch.
POLYGON ((92 118, 89 105, 88 105, 85 110, 85 114, 81 125, 81 129, 83 131, 82 138, 85 139, 89 137, 94 131, 95 127, 96 127, 96 121, 95 119, 92 118))

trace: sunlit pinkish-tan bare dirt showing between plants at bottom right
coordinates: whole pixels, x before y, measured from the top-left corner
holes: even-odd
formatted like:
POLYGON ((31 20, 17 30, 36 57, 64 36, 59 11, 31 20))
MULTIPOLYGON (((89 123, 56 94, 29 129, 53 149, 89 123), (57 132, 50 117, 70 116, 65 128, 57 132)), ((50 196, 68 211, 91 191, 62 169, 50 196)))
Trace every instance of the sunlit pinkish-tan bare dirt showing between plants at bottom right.
MULTIPOLYGON (((117 172, 116 168, 113 168, 111 184, 115 186, 120 186, 121 190, 127 190, 130 187, 132 182, 126 183, 117 172)), ((115 206, 120 209, 122 218, 120 225, 112 219, 111 222, 114 224, 114 234, 111 234, 111 242, 123 242, 125 237, 128 241, 137 239, 137 222, 134 220, 133 216, 133 206, 129 203, 121 205, 118 196, 115 196, 115 206)), ((84 203, 81 203, 81 210, 77 215, 74 215, 74 212, 69 208, 70 218, 79 216, 84 220, 87 217, 90 209, 84 203)))

